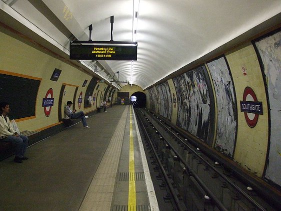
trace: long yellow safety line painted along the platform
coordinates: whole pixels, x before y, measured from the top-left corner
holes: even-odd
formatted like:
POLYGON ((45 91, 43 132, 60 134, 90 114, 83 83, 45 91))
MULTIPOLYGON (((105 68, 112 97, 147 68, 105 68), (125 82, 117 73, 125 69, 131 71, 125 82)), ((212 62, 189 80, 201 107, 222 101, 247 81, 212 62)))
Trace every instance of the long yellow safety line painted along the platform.
POLYGON ((135 181, 134 181, 134 157, 133 157, 133 136, 132 136, 132 120, 130 107, 130 143, 129 143, 129 194, 128 194, 128 211, 135 210, 135 181))

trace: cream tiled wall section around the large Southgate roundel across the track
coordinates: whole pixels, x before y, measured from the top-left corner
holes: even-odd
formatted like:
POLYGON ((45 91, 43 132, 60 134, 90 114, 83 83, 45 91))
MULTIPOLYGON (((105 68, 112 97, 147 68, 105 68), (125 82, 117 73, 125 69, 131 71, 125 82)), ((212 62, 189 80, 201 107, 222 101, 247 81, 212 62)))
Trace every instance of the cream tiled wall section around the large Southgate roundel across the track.
POLYGON ((268 145, 268 114, 263 78, 259 63, 251 43, 226 54, 237 99, 238 128, 234 160, 257 176, 261 176, 265 164, 268 145), (242 67, 246 75, 243 75, 242 67), (257 100, 262 102, 263 115, 258 116, 255 127, 250 128, 240 111, 245 87, 253 89, 257 100))

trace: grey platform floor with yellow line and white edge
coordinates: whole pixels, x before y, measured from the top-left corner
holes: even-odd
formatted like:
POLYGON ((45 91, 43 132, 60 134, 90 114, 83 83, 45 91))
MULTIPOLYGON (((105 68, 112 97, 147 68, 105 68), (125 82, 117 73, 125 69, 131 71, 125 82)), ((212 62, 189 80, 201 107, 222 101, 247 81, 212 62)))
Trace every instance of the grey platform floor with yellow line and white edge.
POLYGON ((0 210, 158 210, 132 108, 112 106, 0 162, 0 210))

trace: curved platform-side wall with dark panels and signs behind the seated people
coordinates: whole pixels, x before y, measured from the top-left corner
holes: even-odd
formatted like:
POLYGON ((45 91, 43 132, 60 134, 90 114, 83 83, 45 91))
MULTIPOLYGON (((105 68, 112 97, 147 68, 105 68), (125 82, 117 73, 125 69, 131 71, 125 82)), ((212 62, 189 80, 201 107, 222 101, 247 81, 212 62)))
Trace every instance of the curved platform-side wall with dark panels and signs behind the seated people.
POLYGON ((0 26, 0 45, 0 101, 9 103, 9 118, 20 131, 60 125, 68 100, 85 113, 109 96, 115 102, 115 88, 19 32, 0 26))

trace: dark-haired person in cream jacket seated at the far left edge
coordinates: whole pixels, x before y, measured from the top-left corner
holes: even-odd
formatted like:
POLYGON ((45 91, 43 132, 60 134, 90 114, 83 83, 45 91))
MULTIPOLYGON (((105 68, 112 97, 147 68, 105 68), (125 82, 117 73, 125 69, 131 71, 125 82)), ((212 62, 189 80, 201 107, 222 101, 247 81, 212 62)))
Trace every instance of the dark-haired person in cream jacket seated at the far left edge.
POLYGON ((13 129, 7 115, 9 111, 9 104, 7 102, 0 102, 0 136, 6 136, 1 141, 11 142, 16 145, 14 162, 21 163, 22 160, 28 159, 28 157, 24 156, 28 145, 28 138, 24 135, 17 134, 13 129))

